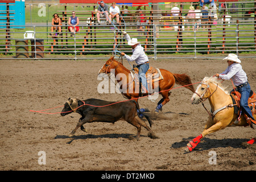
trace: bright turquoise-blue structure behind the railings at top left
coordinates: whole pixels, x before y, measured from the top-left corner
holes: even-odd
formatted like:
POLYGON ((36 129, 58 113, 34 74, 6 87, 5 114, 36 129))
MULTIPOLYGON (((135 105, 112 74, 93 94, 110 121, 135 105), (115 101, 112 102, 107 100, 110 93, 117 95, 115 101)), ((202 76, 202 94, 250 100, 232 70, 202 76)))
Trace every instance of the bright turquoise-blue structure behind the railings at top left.
MULTIPOLYGON (((0 3, 0 28, 6 28, 6 22, 7 22, 7 14, 6 14, 6 3, 0 3), (2 16, 2 17, 1 17, 2 16)), ((22 27, 25 25, 25 1, 20 0, 20 1, 15 1, 15 3, 9 3, 9 10, 10 13, 15 13, 15 14, 10 14, 11 17, 10 22, 13 22, 10 24, 10 28, 25 28, 22 27), (21 27, 14 27, 14 26, 21 26, 21 27)))

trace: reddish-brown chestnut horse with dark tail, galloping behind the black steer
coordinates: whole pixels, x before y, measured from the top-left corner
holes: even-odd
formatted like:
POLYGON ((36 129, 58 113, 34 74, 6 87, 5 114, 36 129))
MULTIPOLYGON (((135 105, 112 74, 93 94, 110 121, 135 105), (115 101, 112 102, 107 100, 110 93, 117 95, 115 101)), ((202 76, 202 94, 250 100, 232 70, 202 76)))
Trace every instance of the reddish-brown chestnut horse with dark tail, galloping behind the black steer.
MULTIPOLYGON (((125 75, 126 79, 120 78, 117 80, 118 84, 120 85, 120 89, 125 90, 125 92, 122 92, 123 96, 125 96, 128 99, 135 99, 138 101, 139 93, 138 92, 130 92, 130 87, 133 88, 133 91, 135 91, 135 81, 133 79, 130 79, 131 74, 130 70, 126 69, 122 63, 119 63, 114 59, 114 57, 110 57, 108 61, 102 66, 98 74, 100 73, 110 73, 111 69, 114 69, 115 78, 117 79, 117 75, 119 73, 122 73, 125 75)), ((158 106, 156 106, 155 111, 158 112, 160 109, 162 109, 162 106, 170 101, 170 89, 174 86, 175 82, 176 84, 185 86, 185 88, 191 90, 192 92, 195 92, 195 89, 192 85, 191 78, 185 74, 173 74, 166 69, 159 69, 163 79, 158 81, 158 84, 155 84, 152 82, 152 89, 156 89, 155 87, 158 87, 158 92, 162 94, 162 100, 158 102, 158 106)), ((146 96, 148 93, 144 93, 143 96, 146 96)))

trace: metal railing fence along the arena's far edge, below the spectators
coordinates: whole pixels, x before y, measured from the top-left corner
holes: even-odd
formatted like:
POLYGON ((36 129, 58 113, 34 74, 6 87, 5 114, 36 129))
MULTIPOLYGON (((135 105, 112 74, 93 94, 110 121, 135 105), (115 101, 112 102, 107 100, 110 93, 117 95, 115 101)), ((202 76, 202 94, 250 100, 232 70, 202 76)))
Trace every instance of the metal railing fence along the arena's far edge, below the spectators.
MULTIPOLYGON (((254 53, 256 50, 255 23, 251 20, 236 20, 229 24, 218 22, 217 24, 201 23, 197 31, 188 30, 188 26, 195 24, 183 22, 180 25, 171 23, 142 25, 144 31, 139 31, 138 25, 126 23, 127 32, 131 38, 138 38, 149 58, 207 58, 213 53, 254 53), (203 28, 203 26, 209 26, 203 28)), ((80 32, 71 36, 71 32, 53 32, 57 35, 49 35, 47 31, 51 26, 26 26, 26 31, 34 32, 34 38, 24 39, 26 31, 9 31, 5 35, 5 29, 0 29, 0 59, 105 59, 102 55, 111 55, 115 48, 128 55, 132 53, 131 47, 127 45, 123 35, 113 29, 112 25, 88 25, 82 27, 80 32), (43 44, 37 45, 37 40, 43 40, 43 44), (16 44, 18 40, 28 40, 28 44, 16 44), (32 43, 31 43, 32 40, 32 43), (29 44, 30 43, 30 44, 29 44), (17 48, 26 47, 25 51, 17 48), (37 47, 43 47, 39 50, 37 47), (19 53, 28 53, 28 57, 19 57, 19 53), (43 54, 38 56, 38 54, 43 54), (88 57, 86 55, 94 55, 88 57)), ((62 26, 67 27, 67 26, 62 26)), ((119 30, 123 30, 123 25, 119 30)), ((256 57, 251 56, 251 57, 256 57)))

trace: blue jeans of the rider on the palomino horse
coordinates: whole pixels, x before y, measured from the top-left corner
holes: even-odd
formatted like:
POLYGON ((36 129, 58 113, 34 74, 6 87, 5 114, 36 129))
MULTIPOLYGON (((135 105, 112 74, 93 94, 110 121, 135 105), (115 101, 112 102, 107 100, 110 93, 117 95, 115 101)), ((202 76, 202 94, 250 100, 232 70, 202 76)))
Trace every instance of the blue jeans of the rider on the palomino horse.
POLYGON ((249 94, 251 92, 251 86, 250 86, 249 82, 247 85, 242 86, 241 88, 237 88, 237 91, 239 93, 241 93, 240 105, 242 107, 243 112, 247 115, 247 117, 255 120, 253 118, 253 114, 251 114, 251 109, 248 106, 249 94))

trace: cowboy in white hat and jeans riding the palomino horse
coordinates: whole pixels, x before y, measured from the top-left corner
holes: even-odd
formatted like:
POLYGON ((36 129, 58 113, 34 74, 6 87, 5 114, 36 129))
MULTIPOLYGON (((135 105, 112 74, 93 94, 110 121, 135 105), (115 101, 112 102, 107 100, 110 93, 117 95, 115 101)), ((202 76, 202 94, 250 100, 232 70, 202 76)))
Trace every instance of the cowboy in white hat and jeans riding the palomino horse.
POLYGON ((240 64, 241 60, 238 59, 238 56, 233 53, 230 53, 228 57, 225 57, 223 60, 228 62, 228 68, 226 68, 226 70, 220 74, 217 73, 215 76, 220 77, 222 80, 232 79, 236 85, 237 91, 241 93, 240 106, 242 107, 242 111, 248 117, 246 119, 250 119, 250 122, 256 125, 253 114, 251 113, 251 109, 248 106, 251 87, 247 81, 247 75, 245 71, 243 71, 242 65, 240 64))

